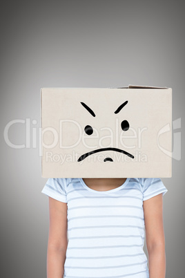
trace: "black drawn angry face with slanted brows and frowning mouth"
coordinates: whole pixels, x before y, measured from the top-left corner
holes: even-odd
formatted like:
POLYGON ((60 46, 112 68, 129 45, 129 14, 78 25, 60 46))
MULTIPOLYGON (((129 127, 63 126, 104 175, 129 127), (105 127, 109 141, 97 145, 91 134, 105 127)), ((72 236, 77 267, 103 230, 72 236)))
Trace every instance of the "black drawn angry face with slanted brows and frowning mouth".
MULTIPOLYGON (((85 104, 84 102, 80 102, 86 109, 87 111, 93 115, 93 117, 95 117, 95 113, 93 112, 92 109, 90 109, 90 107, 88 107, 87 104, 85 104)), ((115 114, 119 113, 119 111, 128 103, 128 100, 126 100, 126 102, 122 103, 118 108, 117 110, 115 111, 115 114)), ((127 131, 129 129, 129 123, 127 120, 123 120, 121 122, 121 129, 123 131, 127 131)), ((86 134, 88 136, 92 135, 93 134, 93 127, 91 127, 90 125, 86 125, 86 127, 84 128, 84 131, 86 132, 86 134)), ((127 151, 124 151, 123 149, 117 149, 117 148, 114 148, 114 147, 106 147, 106 148, 101 148, 101 149, 95 149, 94 151, 89 151, 88 153, 86 154, 83 154, 79 157, 79 159, 77 160, 78 162, 80 162, 81 160, 84 160, 86 157, 90 156, 91 154, 95 154, 99 151, 118 151, 122 154, 126 154, 126 156, 129 156, 130 158, 134 158, 134 156, 132 154, 129 154, 127 151)), ((104 159, 104 162, 106 161, 113 161, 112 158, 105 158, 104 159)))

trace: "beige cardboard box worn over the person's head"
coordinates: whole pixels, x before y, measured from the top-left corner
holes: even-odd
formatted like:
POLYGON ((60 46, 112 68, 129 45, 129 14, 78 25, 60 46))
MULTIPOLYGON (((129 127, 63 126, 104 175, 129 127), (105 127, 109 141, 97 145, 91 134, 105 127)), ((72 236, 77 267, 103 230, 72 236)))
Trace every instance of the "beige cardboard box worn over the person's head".
POLYGON ((171 125, 171 88, 41 89, 41 176, 169 178, 171 125))

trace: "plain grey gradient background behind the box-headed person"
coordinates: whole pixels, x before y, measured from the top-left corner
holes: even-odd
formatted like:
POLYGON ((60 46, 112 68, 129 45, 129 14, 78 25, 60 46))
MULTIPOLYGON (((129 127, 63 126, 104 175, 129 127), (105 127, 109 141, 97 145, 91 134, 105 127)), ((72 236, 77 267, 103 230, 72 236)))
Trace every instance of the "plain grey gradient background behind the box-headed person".
MULTIPOLYGON (((0 46, 1 277, 42 278, 49 221, 48 198, 41 189, 47 179, 41 178, 39 147, 8 147, 3 139, 6 124, 30 118, 37 120, 39 130, 41 87, 128 84, 173 88, 173 120, 184 119, 184 4, 4 1, 0 46)), ((25 124, 14 124, 9 138, 25 143, 25 124)), ((173 177, 162 178, 168 189, 167 278, 184 277, 183 169, 182 155, 173 159, 173 177)))

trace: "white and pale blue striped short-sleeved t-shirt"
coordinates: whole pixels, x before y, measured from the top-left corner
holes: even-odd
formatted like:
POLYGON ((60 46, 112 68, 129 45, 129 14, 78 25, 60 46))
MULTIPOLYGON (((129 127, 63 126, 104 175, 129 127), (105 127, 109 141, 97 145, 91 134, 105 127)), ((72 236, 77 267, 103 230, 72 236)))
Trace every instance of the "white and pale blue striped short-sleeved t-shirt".
POLYGON ((64 277, 148 278, 143 201, 167 191, 160 178, 127 178, 108 191, 49 178, 41 192, 68 205, 64 277))

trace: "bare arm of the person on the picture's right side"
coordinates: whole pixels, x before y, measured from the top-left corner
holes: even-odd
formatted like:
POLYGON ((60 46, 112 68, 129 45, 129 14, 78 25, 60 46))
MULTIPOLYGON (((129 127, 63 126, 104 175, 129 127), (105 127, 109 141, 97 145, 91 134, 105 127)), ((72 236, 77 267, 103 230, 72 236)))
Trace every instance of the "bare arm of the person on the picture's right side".
POLYGON ((150 278, 165 278, 166 254, 162 193, 143 202, 150 278))

